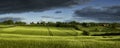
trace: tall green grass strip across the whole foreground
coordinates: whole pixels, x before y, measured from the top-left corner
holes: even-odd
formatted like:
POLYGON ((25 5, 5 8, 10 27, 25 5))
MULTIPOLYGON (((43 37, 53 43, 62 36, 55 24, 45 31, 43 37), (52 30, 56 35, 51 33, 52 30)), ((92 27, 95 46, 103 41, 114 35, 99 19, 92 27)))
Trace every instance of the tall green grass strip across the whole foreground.
POLYGON ((119 38, 1 34, 0 48, 120 48, 119 38))

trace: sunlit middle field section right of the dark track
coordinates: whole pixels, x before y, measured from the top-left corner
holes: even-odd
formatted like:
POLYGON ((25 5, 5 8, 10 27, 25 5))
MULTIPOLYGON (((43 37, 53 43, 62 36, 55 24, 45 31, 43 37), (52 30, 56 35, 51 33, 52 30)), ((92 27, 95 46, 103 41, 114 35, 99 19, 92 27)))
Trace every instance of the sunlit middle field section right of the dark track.
POLYGON ((54 36, 76 36, 78 34, 74 28, 50 27, 50 31, 54 36))

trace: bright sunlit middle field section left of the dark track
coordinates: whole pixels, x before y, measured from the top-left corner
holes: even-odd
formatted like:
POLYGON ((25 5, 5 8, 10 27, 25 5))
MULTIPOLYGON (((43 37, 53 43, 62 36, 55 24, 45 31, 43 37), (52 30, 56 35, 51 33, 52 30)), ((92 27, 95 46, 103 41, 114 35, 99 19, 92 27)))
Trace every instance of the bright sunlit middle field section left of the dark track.
POLYGON ((45 27, 23 27, 16 26, 10 28, 0 29, 0 33, 9 34, 28 34, 28 35, 49 35, 47 28, 45 27))

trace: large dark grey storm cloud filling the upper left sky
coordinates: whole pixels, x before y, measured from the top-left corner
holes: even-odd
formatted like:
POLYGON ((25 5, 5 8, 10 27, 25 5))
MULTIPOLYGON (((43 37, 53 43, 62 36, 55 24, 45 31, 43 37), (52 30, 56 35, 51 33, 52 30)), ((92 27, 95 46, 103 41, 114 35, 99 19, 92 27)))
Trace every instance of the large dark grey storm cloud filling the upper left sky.
POLYGON ((41 11, 86 3, 89 0, 0 0, 0 13, 41 11))

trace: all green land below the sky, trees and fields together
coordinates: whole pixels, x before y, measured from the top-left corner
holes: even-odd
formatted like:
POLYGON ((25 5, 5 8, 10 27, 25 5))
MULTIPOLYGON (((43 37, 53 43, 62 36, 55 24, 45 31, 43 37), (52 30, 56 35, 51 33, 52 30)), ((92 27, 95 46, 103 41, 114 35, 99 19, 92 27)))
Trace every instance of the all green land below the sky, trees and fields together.
POLYGON ((1 22, 0 48, 120 48, 119 23, 1 22))

